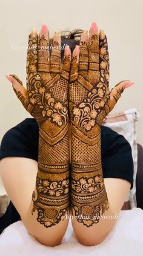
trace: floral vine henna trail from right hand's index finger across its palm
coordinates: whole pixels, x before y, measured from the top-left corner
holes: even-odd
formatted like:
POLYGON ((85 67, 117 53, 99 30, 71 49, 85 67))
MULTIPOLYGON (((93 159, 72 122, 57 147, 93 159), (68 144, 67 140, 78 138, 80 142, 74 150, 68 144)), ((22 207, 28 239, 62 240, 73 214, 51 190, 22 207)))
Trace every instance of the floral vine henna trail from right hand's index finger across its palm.
MULTIPOLYGON (((93 40, 93 38, 92 38, 93 40)), ((110 93, 108 90, 109 82, 109 63, 108 63, 108 50, 107 50, 107 39, 104 38, 101 41, 101 55, 100 55, 100 72, 99 82, 96 86, 91 84, 92 90, 88 92, 87 98, 84 98, 79 106, 73 108, 73 121, 79 124, 79 126, 87 132, 91 130, 92 127, 98 123, 97 117, 104 112, 106 116, 107 113, 104 110, 105 104, 107 104, 110 98, 110 93)), ((95 47, 96 49, 96 47, 95 47)), ((95 58, 96 59, 96 58, 95 58)), ((80 73, 79 73, 80 74, 80 73)), ((91 78, 91 77, 90 77, 91 78)), ((91 79, 89 79, 91 80, 91 79)), ((101 126, 102 123, 99 123, 101 126)))

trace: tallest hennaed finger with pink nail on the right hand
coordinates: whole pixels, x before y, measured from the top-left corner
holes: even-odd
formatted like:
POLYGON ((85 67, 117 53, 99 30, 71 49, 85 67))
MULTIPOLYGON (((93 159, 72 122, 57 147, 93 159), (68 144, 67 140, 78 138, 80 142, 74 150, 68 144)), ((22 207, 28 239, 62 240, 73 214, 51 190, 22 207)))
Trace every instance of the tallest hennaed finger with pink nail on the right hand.
POLYGON ((88 78, 95 84, 99 81, 99 36, 96 23, 92 23, 89 40, 89 68, 88 78))

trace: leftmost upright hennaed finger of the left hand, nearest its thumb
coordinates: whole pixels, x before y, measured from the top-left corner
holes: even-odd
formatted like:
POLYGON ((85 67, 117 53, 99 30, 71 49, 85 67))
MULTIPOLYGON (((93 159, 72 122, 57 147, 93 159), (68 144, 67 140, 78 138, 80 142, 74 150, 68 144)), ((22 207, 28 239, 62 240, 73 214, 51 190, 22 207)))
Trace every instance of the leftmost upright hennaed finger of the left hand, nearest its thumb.
POLYGON ((38 34, 33 29, 28 39, 27 50, 27 79, 31 73, 38 71, 38 34))

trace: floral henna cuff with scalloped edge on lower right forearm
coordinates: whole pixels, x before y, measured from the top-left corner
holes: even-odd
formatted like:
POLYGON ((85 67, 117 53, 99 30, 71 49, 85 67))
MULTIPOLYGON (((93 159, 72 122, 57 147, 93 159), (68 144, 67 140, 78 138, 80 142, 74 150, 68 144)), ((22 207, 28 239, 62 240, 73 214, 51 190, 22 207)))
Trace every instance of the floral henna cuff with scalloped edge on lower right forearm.
POLYGON ((88 179, 81 176, 80 179, 73 179, 71 182, 73 215, 87 227, 98 223, 100 216, 108 210, 102 175, 91 176, 90 174, 89 176, 88 179))

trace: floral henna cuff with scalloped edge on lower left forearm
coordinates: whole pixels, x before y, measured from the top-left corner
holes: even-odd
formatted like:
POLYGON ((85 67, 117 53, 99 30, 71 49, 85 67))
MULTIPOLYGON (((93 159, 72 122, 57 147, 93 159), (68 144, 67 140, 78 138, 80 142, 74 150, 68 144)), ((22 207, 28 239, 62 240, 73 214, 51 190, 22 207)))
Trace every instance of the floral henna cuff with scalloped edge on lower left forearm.
POLYGON ((33 210, 38 210, 38 221, 45 227, 58 224, 69 210, 69 180, 57 182, 48 179, 36 179, 36 193, 33 191, 33 210))

